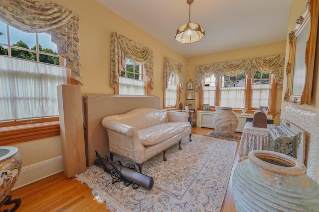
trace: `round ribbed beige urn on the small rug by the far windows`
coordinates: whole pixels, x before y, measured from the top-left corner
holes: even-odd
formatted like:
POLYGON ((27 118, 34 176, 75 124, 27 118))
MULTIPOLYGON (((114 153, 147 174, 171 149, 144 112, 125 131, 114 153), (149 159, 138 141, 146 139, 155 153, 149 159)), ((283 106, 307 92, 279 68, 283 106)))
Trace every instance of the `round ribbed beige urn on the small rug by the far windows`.
POLYGON ((219 107, 213 115, 212 122, 217 133, 229 135, 237 129, 239 119, 231 107, 219 107))

